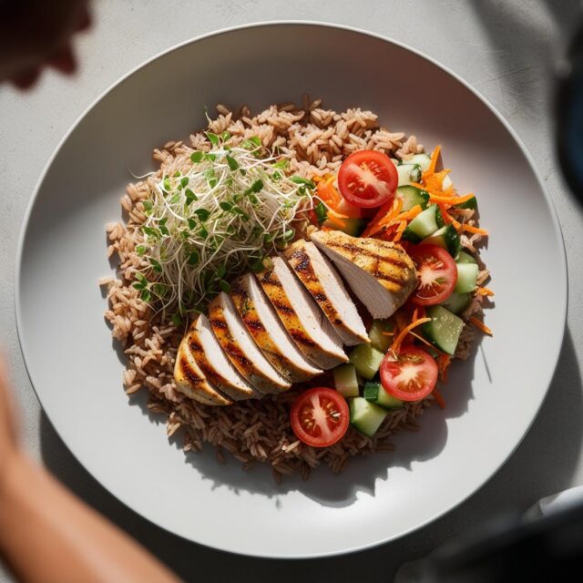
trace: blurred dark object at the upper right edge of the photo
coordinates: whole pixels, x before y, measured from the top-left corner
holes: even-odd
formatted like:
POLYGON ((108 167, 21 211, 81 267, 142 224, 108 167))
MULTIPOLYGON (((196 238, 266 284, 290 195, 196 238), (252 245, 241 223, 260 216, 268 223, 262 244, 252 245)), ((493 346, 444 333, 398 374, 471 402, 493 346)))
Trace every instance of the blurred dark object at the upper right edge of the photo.
POLYGON ((557 150, 569 188, 583 204, 583 26, 559 66, 557 150))

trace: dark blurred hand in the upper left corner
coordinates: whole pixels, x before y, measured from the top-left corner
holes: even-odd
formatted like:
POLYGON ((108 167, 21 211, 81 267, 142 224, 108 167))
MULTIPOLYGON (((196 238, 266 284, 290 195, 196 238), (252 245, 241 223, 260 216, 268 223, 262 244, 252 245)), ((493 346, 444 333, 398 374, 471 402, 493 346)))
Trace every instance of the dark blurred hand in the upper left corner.
POLYGON ((0 1, 0 82, 26 89, 45 66, 65 74, 77 68, 73 36, 87 29, 87 0, 0 1))

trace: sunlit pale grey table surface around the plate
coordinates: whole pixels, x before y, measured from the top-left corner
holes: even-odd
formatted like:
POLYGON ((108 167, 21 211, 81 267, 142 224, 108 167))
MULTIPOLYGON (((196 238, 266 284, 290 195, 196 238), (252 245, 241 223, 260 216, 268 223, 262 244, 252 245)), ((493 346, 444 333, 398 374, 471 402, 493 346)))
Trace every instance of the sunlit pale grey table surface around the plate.
MULTIPOLYGON (((47 73, 26 94, 0 88, 0 345, 12 368, 30 455, 182 578, 212 577, 216 583, 294 581, 301 574, 313 580, 388 581, 404 560, 465 537, 492 517, 523 511, 541 496, 583 484, 583 210, 559 177, 551 116, 553 67, 580 14, 579 0, 101 0, 94 8, 95 26, 78 43, 77 77, 47 73), (169 46, 222 27, 276 19, 334 22, 392 37, 476 87, 535 159, 557 209, 569 271, 568 329, 555 380, 524 442, 498 474, 453 512, 394 543, 346 557, 277 565, 173 537, 99 486, 57 437, 36 400, 14 315, 15 251, 26 206, 47 159, 78 116, 118 77, 169 46)), ((11 580, 0 567, 0 582, 11 580)))

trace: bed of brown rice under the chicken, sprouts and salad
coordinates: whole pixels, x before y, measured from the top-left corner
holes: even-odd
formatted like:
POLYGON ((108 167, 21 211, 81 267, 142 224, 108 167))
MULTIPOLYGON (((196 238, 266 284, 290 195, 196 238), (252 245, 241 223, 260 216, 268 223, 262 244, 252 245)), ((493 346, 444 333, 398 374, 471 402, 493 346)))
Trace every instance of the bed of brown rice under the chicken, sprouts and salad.
MULTIPOLYGON (((347 155, 362 148, 381 150, 402 159, 423 151, 414 136, 405 138, 403 132, 379 127, 373 112, 356 107, 337 113, 323 109, 320 99, 310 102, 304 97, 301 108, 292 103, 273 105, 254 117, 248 107, 233 111, 219 105, 217 112, 217 118, 210 122, 211 131, 229 131, 234 143, 258 136, 266 148, 277 148, 281 156, 289 159, 292 173, 304 177, 335 172, 347 155)), ((281 476, 292 474, 307 479, 312 468, 321 464, 339 473, 353 455, 392 451, 394 432, 416 429, 417 418, 432 404, 433 397, 389 413, 372 438, 350 428, 337 444, 318 449, 304 445, 292 432, 289 412, 297 395, 293 389, 277 398, 267 396, 261 401, 243 401, 224 408, 196 403, 176 390, 173 366, 184 330, 162 322, 159 314, 139 298, 131 283, 134 271, 143 266, 134 251, 141 241, 139 226, 146 219, 142 200, 162 174, 171 175, 177 169, 189 167, 193 149, 210 149, 204 133, 192 134, 188 144, 172 141, 155 149, 159 171, 128 185, 121 199, 124 222, 107 226, 107 256, 118 256, 118 279, 103 278, 99 283, 108 286, 106 318, 128 359, 123 375, 126 393, 135 394, 145 387, 150 411, 167 417, 168 435, 184 428, 184 451, 198 452, 208 442, 216 446, 218 462, 225 463, 225 452, 238 459, 244 469, 255 462, 266 462, 271 464, 278 482, 281 476)), ((470 251, 475 250, 478 241, 479 235, 463 237, 463 244, 470 251)), ((488 274, 481 267, 480 279, 484 281, 488 274)), ((476 312, 479 315, 482 301, 481 296, 476 297, 465 318, 476 312)), ((470 353, 474 336, 474 328, 466 324, 456 357, 465 358, 470 353)))

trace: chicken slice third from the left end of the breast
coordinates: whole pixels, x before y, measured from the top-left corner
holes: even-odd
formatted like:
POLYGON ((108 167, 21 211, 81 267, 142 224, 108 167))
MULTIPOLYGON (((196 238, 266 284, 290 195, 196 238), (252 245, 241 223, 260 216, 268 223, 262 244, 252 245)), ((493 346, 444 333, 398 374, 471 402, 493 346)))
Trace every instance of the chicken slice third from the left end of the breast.
POLYGON ((280 393, 292 386, 261 353, 226 293, 210 302, 209 320, 230 362, 261 393, 280 393))

